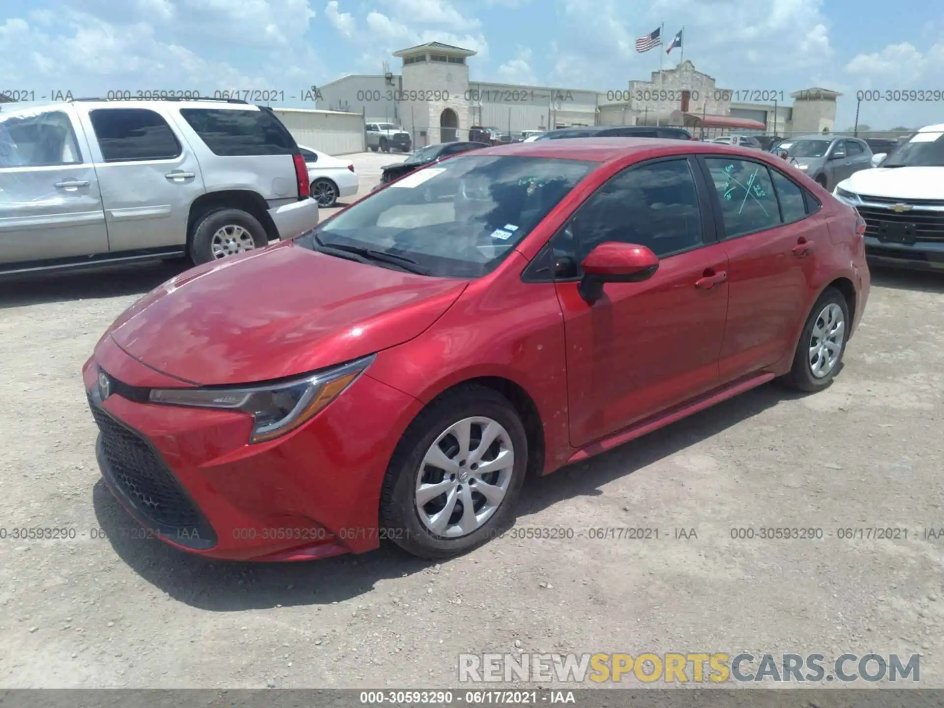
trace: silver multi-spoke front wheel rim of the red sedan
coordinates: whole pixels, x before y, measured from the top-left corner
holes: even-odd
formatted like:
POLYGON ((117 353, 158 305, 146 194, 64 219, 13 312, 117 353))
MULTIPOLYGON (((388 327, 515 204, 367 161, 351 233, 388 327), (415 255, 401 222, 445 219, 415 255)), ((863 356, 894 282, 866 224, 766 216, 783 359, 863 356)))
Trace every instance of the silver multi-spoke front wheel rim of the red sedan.
POLYGON ((485 524, 508 492, 514 444, 496 420, 475 416, 453 423, 433 441, 416 474, 420 521, 446 538, 485 524))

